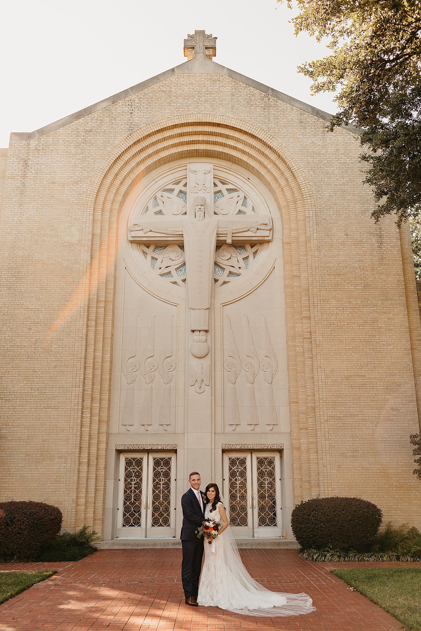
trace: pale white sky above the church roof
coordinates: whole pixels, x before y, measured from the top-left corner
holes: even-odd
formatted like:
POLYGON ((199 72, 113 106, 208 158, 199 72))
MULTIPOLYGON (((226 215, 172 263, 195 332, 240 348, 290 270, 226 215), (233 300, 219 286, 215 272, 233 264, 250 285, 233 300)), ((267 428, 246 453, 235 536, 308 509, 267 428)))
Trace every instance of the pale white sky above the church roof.
POLYGON ((328 54, 295 37, 292 12, 276 0, 13 0, 0 14, 3 97, 0 147, 186 61, 195 29, 218 37, 215 61, 261 83, 336 111, 312 97, 297 65, 328 54))

